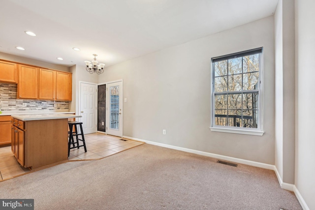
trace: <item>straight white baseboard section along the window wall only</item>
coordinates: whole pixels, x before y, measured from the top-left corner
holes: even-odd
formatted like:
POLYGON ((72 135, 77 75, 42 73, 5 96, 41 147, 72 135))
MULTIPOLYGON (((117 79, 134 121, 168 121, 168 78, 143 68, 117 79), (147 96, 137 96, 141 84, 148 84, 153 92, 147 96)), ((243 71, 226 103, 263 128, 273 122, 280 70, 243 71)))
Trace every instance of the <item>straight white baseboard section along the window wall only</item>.
POLYGON ((173 146, 173 145, 169 145, 169 144, 158 143, 155 141, 141 140, 141 139, 126 137, 126 136, 124 136, 124 138, 130 139, 130 140, 142 141, 142 142, 146 142, 148 144, 162 146, 162 147, 166 147, 166 148, 170 148, 170 149, 176 149, 176 150, 189 152, 189 153, 193 153, 193 154, 197 154, 197 155, 203 155, 203 156, 217 158, 217 159, 221 159, 221 160, 227 160, 227 161, 231 161, 231 162, 235 162, 235 163, 241 163, 241 164, 245 164, 245 165, 255 166, 255 167, 259 167, 259 168, 263 168, 263 169, 274 170, 273 165, 269 165, 269 164, 265 164, 265 163, 259 163, 259 162, 254 162, 254 161, 244 160, 244 159, 239 159, 239 158, 233 158, 233 157, 218 155, 218 154, 214 154, 214 153, 210 153, 210 152, 203 152, 203 151, 188 149, 188 148, 184 148, 184 147, 180 147, 180 146, 173 146))

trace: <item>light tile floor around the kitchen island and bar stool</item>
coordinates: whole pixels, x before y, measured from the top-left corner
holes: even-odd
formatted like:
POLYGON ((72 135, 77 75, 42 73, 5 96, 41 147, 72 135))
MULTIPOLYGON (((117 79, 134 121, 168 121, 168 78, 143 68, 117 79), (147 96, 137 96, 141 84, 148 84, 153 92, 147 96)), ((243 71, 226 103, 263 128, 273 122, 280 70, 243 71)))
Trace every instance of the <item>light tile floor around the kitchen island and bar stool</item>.
MULTIPOLYGON (((144 144, 144 142, 128 139, 122 140, 120 137, 100 133, 86 134, 84 138, 88 151, 84 152, 83 147, 71 149, 68 161, 99 160, 144 144)), ((0 181, 31 172, 30 169, 19 165, 11 151, 11 146, 0 147, 0 181)))

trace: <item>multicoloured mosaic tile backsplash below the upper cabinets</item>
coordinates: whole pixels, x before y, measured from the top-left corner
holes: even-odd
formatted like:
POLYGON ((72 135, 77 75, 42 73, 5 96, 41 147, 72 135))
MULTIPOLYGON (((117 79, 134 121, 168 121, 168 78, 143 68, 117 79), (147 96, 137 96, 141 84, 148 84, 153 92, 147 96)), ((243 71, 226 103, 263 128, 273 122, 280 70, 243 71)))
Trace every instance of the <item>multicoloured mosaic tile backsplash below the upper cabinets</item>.
POLYGON ((54 101, 17 99, 17 84, 0 83, 0 110, 17 112, 66 112, 69 102, 56 103, 54 101))

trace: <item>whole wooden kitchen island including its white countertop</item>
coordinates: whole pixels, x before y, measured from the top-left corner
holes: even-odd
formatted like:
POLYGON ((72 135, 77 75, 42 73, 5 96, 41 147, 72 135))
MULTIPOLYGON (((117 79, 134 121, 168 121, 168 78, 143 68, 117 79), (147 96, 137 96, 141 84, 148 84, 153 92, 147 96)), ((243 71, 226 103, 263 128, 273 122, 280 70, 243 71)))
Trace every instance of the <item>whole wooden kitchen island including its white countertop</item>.
POLYGON ((12 115, 11 150, 21 166, 33 170, 67 161, 68 118, 77 117, 81 115, 12 115))

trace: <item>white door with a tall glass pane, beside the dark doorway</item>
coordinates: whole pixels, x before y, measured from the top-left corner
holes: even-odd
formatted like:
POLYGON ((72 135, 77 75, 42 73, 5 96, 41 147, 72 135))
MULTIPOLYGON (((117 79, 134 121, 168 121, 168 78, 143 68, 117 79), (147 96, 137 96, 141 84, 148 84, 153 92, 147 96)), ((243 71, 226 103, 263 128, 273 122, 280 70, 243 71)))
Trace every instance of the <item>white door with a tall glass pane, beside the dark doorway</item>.
POLYGON ((123 137, 123 82, 109 83, 106 91, 107 134, 123 137))

